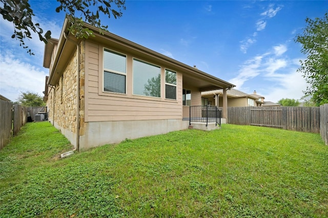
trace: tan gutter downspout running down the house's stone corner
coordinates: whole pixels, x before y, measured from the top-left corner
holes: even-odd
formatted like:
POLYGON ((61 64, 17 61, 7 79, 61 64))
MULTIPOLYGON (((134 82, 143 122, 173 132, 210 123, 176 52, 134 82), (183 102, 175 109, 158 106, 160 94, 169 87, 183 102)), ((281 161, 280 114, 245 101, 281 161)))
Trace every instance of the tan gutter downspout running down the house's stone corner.
POLYGON ((81 62, 81 57, 80 57, 80 45, 70 39, 67 34, 64 32, 64 37, 66 40, 71 41, 76 45, 77 48, 77 75, 76 75, 76 148, 74 150, 79 151, 79 141, 80 141, 80 62, 81 62))

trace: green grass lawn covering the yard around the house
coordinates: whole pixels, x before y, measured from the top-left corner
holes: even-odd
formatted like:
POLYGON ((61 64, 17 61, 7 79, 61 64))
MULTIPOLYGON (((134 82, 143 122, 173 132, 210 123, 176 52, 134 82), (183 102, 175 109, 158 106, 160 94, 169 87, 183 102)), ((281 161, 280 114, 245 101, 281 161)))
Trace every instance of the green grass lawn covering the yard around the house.
POLYGON ((0 217, 328 217, 318 134, 226 124, 70 149, 27 123, 0 152, 0 217))

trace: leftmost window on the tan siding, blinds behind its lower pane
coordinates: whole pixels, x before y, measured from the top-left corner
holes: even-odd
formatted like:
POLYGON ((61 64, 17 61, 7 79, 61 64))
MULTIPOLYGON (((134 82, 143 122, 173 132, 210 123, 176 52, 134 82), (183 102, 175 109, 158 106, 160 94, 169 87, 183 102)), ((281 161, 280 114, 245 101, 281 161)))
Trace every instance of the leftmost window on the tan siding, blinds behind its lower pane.
POLYGON ((104 92, 126 94, 127 56, 104 49, 104 92))

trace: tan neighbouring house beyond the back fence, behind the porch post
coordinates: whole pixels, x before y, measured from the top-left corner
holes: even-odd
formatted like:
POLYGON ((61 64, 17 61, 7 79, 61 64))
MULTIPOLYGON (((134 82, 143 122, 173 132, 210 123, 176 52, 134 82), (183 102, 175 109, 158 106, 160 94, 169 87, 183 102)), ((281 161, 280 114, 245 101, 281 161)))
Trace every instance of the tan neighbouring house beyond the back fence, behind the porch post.
MULTIPOLYGON (((247 94, 236 89, 230 89, 227 90, 227 97, 228 107, 262 106, 264 103, 264 97, 257 95, 256 91, 253 94, 247 94)), ((201 98, 203 105, 223 106, 223 90, 201 92, 201 98)))

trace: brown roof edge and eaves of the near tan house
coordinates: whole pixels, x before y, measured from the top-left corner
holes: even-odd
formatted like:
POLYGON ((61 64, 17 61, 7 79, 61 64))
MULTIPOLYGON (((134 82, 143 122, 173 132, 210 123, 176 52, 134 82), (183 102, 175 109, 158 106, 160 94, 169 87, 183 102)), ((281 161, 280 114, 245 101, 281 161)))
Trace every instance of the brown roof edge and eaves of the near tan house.
MULTIPOLYGON (((50 68, 50 74, 48 79, 49 85, 55 85, 59 80, 62 72, 65 70, 66 62, 69 57, 72 55, 73 51, 76 49, 76 45, 80 42, 81 39, 77 39, 72 34, 69 34, 69 27, 71 23, 66 18, 64 21, 63 29, 61 30, 59 40, 52 39, 52 43, 48 43, 45 48, 45 57, 44 57, 44 67, 50 68), (52 58, 51 55, 56 46, 56 53, 52 58), (65 51, 65 52, 63 52, 65 51), (51 66, 51 61, 53 61, 54 66, 51 66)), ((215 76, 202 72, 194 67, 188 66, 185 63, 181 63, 177 60, 174 60, 168 56, 150 50, 146 47, 140 46, 135 42, 129 41, 128 39, 122 38, 110 32, 103 32, 99 34, 99 29, 84 23, 84 27, 93 31, 95 37, 90 39, 95 43, 108 45, 109 43, 113 48, 122 48, 129 49, 130 53, 138 54, 138 56, 146 56, 156 59, 159 62, 166 63, 168 67, 174 66, 175 69, 181 70, 184 74, 184 80, 188 80, 190 83, 198 84, 199 90, 209 91, 216 89, 231 89, 235 87, 234 84, 219 79, 215 76)))

